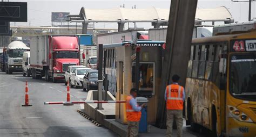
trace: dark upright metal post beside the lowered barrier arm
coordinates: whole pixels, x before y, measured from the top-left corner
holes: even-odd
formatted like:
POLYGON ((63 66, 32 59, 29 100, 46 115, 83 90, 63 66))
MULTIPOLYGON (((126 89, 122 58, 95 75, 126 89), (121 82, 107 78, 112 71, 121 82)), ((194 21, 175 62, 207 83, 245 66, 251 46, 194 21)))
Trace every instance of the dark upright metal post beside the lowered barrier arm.
MULTIPOLYGON (((103 81, 102 81, 102 62, 103 62, 103 45, 99 44, 98 46, 98 82, 99 82, 99 86, 98 86, 98 100, 102 100, 102 85, 103 85, 103 81)), ((102 104, 98 104, 97 107, 98 110, 102 110, 102 104)))

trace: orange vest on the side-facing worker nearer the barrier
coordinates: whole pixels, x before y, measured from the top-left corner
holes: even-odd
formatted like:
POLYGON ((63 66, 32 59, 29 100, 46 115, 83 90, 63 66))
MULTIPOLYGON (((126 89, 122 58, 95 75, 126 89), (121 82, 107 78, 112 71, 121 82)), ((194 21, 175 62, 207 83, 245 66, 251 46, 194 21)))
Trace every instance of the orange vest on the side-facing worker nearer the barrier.
POLYGON ((126 118, 128 121, 137 122, 140 120, 140 117, 142 117, 142 112, 137 112, 132 109, 132 106, 130 105, 130 100, 132 98, 131 95, 126 97, 126 118))

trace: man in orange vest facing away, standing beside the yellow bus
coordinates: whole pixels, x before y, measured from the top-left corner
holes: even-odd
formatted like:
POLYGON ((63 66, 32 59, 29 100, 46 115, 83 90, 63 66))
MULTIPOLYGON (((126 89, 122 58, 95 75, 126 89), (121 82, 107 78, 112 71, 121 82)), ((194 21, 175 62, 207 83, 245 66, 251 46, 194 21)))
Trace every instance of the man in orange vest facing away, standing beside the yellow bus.
POLYGON ((171 136, 173 120, 176 120, 178 137, 182 136, 182 126, 183 126, 183 102, 185 99, 185 89, 183 86, 178 84, 178 75, 172 76, 172 84, 166 86, 165 90, 165 100, 166 100, 166 136, 171 136))

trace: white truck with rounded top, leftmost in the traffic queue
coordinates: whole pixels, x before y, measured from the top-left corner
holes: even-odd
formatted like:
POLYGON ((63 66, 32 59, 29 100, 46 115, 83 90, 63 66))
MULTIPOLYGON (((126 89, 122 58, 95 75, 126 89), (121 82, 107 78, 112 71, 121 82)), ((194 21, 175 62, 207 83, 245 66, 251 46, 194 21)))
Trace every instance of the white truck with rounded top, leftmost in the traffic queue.
POLYGON ((26 51, 30 51, 30 48, 21 41, 12 41, 8 47, 4 47, 0 57, 2 71, 6 74, 22 72, 22 56, 26 51))

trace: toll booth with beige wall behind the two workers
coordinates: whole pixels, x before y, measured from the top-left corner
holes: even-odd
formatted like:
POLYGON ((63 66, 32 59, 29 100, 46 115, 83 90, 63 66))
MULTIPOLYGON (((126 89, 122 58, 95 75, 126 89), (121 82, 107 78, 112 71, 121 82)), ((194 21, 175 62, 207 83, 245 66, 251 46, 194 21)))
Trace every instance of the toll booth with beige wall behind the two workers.
MULTIPOLYGON (((139 95, 148 98, 147 122, 155 124, 165 42, 138 40, 136 46, 140 47, 139 95)), ((103 46, 104 50, 112 49, 114 54, 117 77, 116 100, 125 100, 130 94, 130 89, 135 87, 136 46, 132 45, 132 41, 103 46)), ((126 124, 125 103, 116 104, 116 120, 126 124)))

